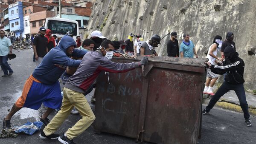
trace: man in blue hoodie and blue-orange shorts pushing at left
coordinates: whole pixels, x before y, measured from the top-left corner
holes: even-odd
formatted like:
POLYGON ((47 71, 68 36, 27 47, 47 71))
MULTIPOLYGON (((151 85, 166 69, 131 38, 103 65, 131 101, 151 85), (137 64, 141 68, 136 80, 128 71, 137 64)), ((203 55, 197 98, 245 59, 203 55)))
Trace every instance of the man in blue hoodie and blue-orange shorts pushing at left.
MULTIPOLYGON (((47 116, 61 107, 61 88, 58 82, 67 66, 78 67, 81 60, 70 59, 70 56, 82 57, 86 51, 74 49, 76 42, 70 36, 64 36, 59 45, 44 56, 40 65, 26 80, 22 95, 15 102, 10 113, 3 119, 3 128, 10 128, 10 119, 22 107, 38 110, 41 104, 48 107, 40 121, 49 123, 47 116)), ((54 137, 55 138, 55 137, 54 137)))

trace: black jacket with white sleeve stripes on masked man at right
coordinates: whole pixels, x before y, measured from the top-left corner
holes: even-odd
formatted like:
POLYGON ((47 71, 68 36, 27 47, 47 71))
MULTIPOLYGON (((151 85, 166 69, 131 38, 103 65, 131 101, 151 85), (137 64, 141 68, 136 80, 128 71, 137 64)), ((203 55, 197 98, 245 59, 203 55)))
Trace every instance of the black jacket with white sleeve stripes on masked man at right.
POLYGON ((230 84, 244 83, 244 61, 239 57, 236 61, 225 66, 211 65, 210 69, 213 73, 221 75, 227 72, 225 81, 230 84))

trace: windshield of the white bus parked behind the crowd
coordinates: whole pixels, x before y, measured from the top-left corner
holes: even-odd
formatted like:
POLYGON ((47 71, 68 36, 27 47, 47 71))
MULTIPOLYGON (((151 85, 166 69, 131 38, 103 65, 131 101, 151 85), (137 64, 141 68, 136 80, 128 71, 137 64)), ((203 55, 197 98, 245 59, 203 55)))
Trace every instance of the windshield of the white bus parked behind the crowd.
POLYGON ((77 25, 76 23, 49 20, 47 23, 47 28, 52 31, 52 34, 66 34, 67 31, 71 31, 74 36, 77 35, 77 25))

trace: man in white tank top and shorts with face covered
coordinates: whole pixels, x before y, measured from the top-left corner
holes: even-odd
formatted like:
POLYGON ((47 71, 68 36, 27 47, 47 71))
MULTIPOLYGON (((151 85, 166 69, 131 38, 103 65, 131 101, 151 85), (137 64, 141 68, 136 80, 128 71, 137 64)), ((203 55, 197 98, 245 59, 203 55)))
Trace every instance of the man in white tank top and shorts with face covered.
MULTIPOLYGON (((222 39, 221 36, 216 35, 214 37, 213 44, 209 47, 207 58, 209 59, 209 62, 212 65, 214 65, 214 62, 217 65, 221 65, 221 63, 218 62, 217 59, 221 62, 223 61, 223 58, 217 57, 217 53, 221 49, 221 44, 222 44, 221 39, 222 39)), ((217 81, 217 79, 218 79, 218 74, 212 73, 212 71, 209 68, 207 68, 207 79, 205 82, 204 93, 207 93, 210 95, 214 94, 212 92, 212 87, 215 84, 215 82, 217 81)))

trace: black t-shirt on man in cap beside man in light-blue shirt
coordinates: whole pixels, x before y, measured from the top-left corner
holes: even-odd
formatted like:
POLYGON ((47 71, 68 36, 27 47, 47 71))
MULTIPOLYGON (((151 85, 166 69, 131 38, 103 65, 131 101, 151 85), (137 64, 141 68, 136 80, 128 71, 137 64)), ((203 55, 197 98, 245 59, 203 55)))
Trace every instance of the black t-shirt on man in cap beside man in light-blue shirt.
POLYGON ((173 42, 172 40, 168 40, 167 56, 173 56, 173 57, 180 56, 178 40, 175 40, 175 42, 173 42))

